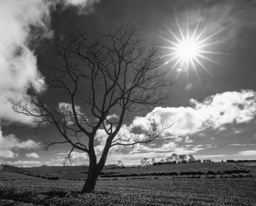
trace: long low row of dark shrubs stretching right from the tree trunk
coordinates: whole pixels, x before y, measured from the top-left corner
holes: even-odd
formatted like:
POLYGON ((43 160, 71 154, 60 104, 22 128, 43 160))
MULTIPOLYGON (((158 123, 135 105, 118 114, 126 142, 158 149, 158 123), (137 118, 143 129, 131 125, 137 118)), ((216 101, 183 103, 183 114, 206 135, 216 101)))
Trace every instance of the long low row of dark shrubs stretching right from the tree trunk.
POLYGON ((224 171, 210 171, 208 170, 207 172, 204 171, 181 171, 181 172, 151 172, 151 173, 141 173, 141 174, 106 174, 106 175, 101 175, 100 177, 138 177, 138 176, 172 176, 172 175, 216 175, 216 174, 238 174, 238 173, 248 173, 250 170, 246 169, 233 169, 233 170, 224 170, 224 171))

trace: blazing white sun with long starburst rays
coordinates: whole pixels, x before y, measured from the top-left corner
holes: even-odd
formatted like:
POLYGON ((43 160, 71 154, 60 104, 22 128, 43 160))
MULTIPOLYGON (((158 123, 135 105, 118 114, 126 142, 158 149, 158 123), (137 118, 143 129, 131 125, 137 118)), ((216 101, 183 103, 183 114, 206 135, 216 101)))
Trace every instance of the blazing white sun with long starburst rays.
MULTIPOLYGON (((167 27, 168 31, 171 33, 172 37, 175 38, 176 41, 171 41, 167 38, 162 38, 163 40, 167 41, 171 44, 171 46, 160 46, 165 49, 171 50, 170 53, 163 55, 163 57, 171 57, 168 61, 166 61, 164 64, 171 64, 171 62, 175 62, 172 66, 172 69, 175 68, 179 64, 179 68, 177 68, 178 73, 180 73, 183 70, 186 70, 187 73, 189 71, 189 67, 193 67, 195 70, 195 73, 198 76, 198 72, 196 70, 196 64, 199 64, 201 67, 204 68, 210 75, 211 73, 207 69, 207 67, 202 64, 201 60, 207 60, 211 61, 215 64, 218 64, 218 62, 213 61, 212 59, 205 56, 205 54, 226 54, 221 52, 214 52, 211 50, 206 50, 205 48, 210 49, 211 45, 218 44, 221 41, 211 41, 211 38, 215 35, 217 35, 219 32, 226 29, 228 26, 223 27, 222 29, 218 30, 217 32, 213 33, 212 35, 207 36, 206 38, 202 39, 201 36, 205 32, 206 28, 204 28, 199 34, 198 34, 198 26, 201 22, 201 20, 198 21, 194 31, 190 31, 189 26, 186 29, 185 34, 183 33, 180 23, 177 20, 176 17, 177 26, 180 32, 180 38, 167 27)), ((199 78, 199 76, 198 76, 199 78)))

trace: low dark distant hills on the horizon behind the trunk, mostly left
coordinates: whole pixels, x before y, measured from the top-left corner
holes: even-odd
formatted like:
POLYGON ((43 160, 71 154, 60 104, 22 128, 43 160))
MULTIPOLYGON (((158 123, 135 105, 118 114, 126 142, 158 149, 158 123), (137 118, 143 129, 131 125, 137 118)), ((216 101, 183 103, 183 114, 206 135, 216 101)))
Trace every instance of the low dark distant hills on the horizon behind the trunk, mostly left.
MULTIPOLYGON (((62 166, 47 166, 47 165, 42 165, 40 167, 30 167, 30 168, 19 168, 19 167, 15 167, 15 166, 10 166, 10 165, 2 165, 3 166, 3 170, 2 171, 6 171, 6 172, 13 172, 13 173, 18 173, 18 171, 22 171, 22 172, 32 172, 34 174, 42 174, 42 175, 46 175, 46 174, 63 174, 63 172, 66 173, 71 173, 76 172, 76 171, 88 171, 89 169, 89 165, 82 166, 82 165, 76 165, 76 166, 65 166, 64 168, 62 166)), ((105 165, 105 168, 112 168, 112 167, 117 167, 117 165, 113 164, 113 165, 105 165)))

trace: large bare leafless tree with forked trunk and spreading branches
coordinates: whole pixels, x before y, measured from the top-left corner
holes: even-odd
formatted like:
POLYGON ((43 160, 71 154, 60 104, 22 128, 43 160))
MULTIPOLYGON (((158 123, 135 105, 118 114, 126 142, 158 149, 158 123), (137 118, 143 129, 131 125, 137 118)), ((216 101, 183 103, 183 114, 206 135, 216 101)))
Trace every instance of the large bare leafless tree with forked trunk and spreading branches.
POLYGON ((174 124, 157 122, 152 113, 147 126, 131 126, 141 110, 152 111, 169 101, 174 82, 169 69, 163 67, 159 48, 146 46, 136 26, 111 26, 93 35, 75 28, 70 34, 56 35, 54 43, 62 64, 48 66, 51 75, 44 83, 38 80, 40 87, 30 81, 21 99, 9 101, 15 112, 30 116, 36 130, 55 125, 61 139, 38 142, 46 150, 70 143, 67 158, 74 148, 88 154, 89 171, 82 192, 91 193, 111 147, 133 148, 151 142, 174 124), (47 96, 51 89, 68 103, 51 102, 47 96), (99 129, 108 137, 97 163, 94 140, 99 129))

